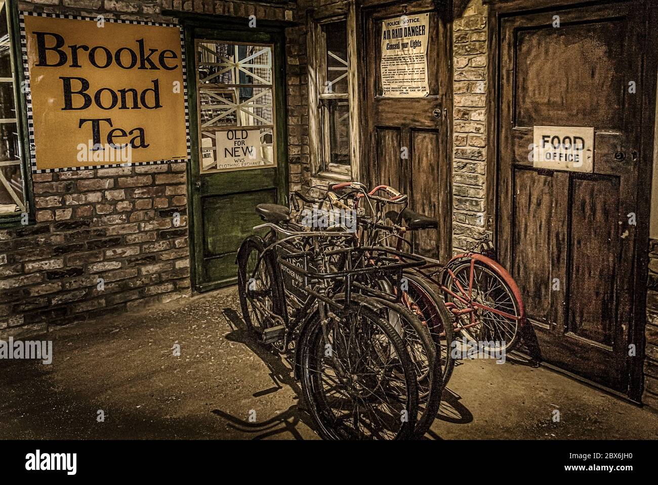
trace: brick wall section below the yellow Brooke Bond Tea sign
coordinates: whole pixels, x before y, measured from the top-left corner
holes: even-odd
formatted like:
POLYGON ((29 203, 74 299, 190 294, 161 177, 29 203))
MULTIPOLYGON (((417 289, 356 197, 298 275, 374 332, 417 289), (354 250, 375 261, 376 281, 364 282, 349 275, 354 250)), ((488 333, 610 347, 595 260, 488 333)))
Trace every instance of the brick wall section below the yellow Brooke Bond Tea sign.
POLYGON ((187 294, 185 170, 35 174, 38 222, 0 231, 0 335, 187 294))

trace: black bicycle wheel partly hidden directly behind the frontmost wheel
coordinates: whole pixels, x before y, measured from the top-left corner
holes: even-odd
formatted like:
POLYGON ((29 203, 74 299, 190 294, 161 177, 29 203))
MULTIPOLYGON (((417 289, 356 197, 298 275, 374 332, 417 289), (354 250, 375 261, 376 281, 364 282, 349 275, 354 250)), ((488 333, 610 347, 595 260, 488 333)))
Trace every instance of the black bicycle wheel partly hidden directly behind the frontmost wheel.
POLYGON ((436 358, 436 344, 428 328, 407 308, 381 298, 371 300, 383 307, 378 313, 402 336, 411 356, 418 383, 418 420, 414 434, 422 438, 436 419, 443 393, 443 373, 441 361, 436 358))

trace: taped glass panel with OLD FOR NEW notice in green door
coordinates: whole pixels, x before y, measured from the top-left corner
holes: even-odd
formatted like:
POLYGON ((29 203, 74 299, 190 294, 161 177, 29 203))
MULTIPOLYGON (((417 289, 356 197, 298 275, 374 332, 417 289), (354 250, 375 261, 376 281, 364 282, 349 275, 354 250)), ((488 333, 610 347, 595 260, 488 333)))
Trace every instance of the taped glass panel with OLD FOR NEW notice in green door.
POLYGON ((201 173, 276 166, 272 47, 196 41, 201 173))

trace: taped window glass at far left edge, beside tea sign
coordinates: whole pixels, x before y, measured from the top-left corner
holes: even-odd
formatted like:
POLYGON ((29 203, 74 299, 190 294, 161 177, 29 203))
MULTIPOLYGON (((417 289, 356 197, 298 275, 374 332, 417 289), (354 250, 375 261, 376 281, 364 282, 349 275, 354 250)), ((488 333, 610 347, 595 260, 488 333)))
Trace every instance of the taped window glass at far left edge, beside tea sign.
POLYGON ((0 216, 25 210, 8 20, 0 0, 0 216))

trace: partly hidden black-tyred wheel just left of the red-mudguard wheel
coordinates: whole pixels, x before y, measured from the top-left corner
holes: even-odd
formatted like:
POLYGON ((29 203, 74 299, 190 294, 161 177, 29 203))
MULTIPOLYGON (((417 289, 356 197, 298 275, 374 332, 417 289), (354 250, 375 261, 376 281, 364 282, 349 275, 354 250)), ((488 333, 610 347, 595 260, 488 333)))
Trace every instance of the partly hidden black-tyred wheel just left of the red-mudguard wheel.
POLYGON ((405 273, 407 290, 402 295, 402 303, 417 315, 425 325, 436 344, 437 354, 441 356, 443 386, 445 387, 455 369, 455 359, 451 350, 455 340, 453 319, 445 304, 430 285, 417 275, 405 273))

